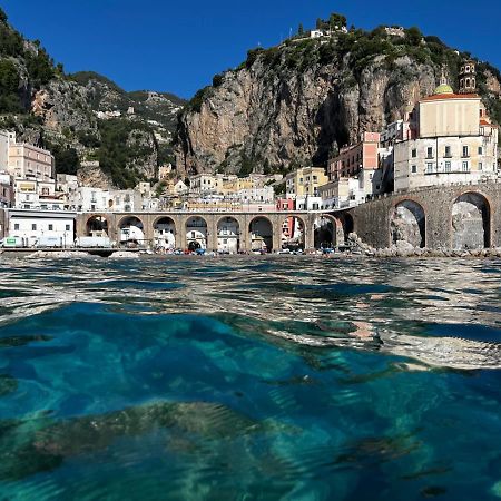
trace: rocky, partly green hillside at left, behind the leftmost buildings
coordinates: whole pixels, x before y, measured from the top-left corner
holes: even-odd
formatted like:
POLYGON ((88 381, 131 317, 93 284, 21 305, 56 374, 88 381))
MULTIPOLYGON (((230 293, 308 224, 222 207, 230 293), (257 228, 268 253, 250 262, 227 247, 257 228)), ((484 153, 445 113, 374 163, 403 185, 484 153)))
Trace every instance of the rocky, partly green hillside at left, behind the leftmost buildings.
POLYGON ((58 173, 79 174, 96 187, 155 179, 158 166, 174 160, 183 105, 169 94, 126 92, 95 72, 66 75, 0 10, 0 127, 51 149, 58 173), (81 169, 88 160, 100 167, 81 169))

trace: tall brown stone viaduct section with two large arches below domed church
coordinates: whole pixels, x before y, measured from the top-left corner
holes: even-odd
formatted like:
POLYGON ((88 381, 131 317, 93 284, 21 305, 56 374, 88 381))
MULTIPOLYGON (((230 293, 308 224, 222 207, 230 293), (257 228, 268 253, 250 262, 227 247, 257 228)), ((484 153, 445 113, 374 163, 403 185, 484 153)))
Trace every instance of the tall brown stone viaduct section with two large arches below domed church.
POLYGON ((501 181, 392 194, 344 215, 375 248, 402 239, 432 249, 501 247, 501 181))

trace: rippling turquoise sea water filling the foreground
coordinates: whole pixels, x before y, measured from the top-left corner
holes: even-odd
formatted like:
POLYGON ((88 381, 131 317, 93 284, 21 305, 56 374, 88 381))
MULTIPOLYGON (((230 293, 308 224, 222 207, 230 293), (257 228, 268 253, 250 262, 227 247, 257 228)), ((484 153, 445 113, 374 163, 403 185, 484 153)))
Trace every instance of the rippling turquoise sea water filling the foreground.
POLYGON ((501 262, 0 262, 1 500, 501 498, 501 262))

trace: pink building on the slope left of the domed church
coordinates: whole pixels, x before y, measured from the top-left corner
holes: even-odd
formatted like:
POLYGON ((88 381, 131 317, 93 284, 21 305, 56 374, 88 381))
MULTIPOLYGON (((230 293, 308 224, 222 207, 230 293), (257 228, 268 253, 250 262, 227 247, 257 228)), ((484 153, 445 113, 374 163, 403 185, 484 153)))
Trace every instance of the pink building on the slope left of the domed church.
POLYGON ((328 179, 332 181, 342 177, 354 177, 362 170, 377 169, 380 137, 379 132, 363 132, 360 143, 342 148, 337 157, 328 161, 328 179))

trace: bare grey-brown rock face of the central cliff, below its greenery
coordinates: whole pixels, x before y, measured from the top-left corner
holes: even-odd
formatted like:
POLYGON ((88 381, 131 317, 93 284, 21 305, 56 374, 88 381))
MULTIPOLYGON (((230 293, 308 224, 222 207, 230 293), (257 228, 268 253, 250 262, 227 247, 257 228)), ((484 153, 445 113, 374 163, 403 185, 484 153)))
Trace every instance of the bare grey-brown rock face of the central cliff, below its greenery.
POLYGON ((334 65, 304 72, 269 76, 261 61, 228 72, 199 111, 180 117, 177 166, 187 173, 236 173, 242 158, 264 165, 326 161, 335 144, 355 140, 361 131, 380 130, 404 115, 410 105, 431 92, 434 68, 395 61, 387 70, 375 60, 358 81, 334 65))

